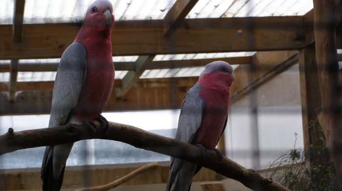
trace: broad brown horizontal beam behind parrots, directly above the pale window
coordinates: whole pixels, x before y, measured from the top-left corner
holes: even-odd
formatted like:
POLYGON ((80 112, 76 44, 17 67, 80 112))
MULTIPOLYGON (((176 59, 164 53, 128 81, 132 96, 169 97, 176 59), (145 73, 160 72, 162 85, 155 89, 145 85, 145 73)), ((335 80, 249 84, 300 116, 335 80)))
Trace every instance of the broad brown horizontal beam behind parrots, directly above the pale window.
MULTIPOLYGON (((124 99, 117 99, 113 88, 105 111, 179 109, 184 95, 197 80, 198 77, 139 79, 124 99)), ((14 103, 0 103, 0 115, 48 114, 51 100, 52 89, 21 91, 17 93, 14 103)))

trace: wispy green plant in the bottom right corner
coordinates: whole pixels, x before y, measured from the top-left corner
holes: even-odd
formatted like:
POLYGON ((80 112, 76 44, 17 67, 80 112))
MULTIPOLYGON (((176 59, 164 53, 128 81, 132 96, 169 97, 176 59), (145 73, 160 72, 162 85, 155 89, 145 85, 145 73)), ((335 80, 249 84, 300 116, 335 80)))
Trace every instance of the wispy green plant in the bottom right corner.
MULTIPOLYGON (((321 130, 318 121, 310 122, 311 129, 321 130)), ((276 159, 266 176, 291 191, 342 191, 325 139, 318 138, 304 150, 296 148, 297 136, 294 148, 276 159)))

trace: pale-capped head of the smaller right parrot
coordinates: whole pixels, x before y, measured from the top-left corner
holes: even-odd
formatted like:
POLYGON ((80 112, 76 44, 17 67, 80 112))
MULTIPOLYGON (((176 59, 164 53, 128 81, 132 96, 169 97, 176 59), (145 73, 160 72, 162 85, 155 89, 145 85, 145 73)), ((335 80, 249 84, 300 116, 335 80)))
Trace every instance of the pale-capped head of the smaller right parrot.
POLYGON ((204 71, 199 75, 199 79, 203 77, 206 74, 215 72, 218 75, 219 79, 228 79, 229 86, 232 85, 234 81, 234 73, 233 73, 233 67, 224 61, 214 61, 212 63, 209 63, 205 66, 204 71))

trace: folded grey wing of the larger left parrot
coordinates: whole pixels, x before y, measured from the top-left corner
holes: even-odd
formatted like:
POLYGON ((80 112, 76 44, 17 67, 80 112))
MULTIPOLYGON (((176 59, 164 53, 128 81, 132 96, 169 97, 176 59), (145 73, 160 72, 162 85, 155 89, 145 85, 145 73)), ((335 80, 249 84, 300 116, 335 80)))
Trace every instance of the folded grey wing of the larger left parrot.
POLYGON ((53 88, 49 127, 64 124, 76 106, 85 81, 86 53, 83 45, 72 43, 63 52, 53 88))

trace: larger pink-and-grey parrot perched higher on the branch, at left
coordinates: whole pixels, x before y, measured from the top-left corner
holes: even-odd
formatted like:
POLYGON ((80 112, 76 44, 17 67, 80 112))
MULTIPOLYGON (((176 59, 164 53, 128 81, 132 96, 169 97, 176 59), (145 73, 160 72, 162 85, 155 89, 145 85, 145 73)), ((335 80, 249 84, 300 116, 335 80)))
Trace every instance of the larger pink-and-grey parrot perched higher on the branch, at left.
MULTIPOLYGON (((112 13, 108 0, 93 2, 75 41, 63 52, 53 88, 49 127, 75 123, 91 128, 92 121, 97 119, 109 129, 101 113, 114 83, 112 13)), ((43 191, 61 189, 72 145, 46 146, 41 170, 43 191)))

